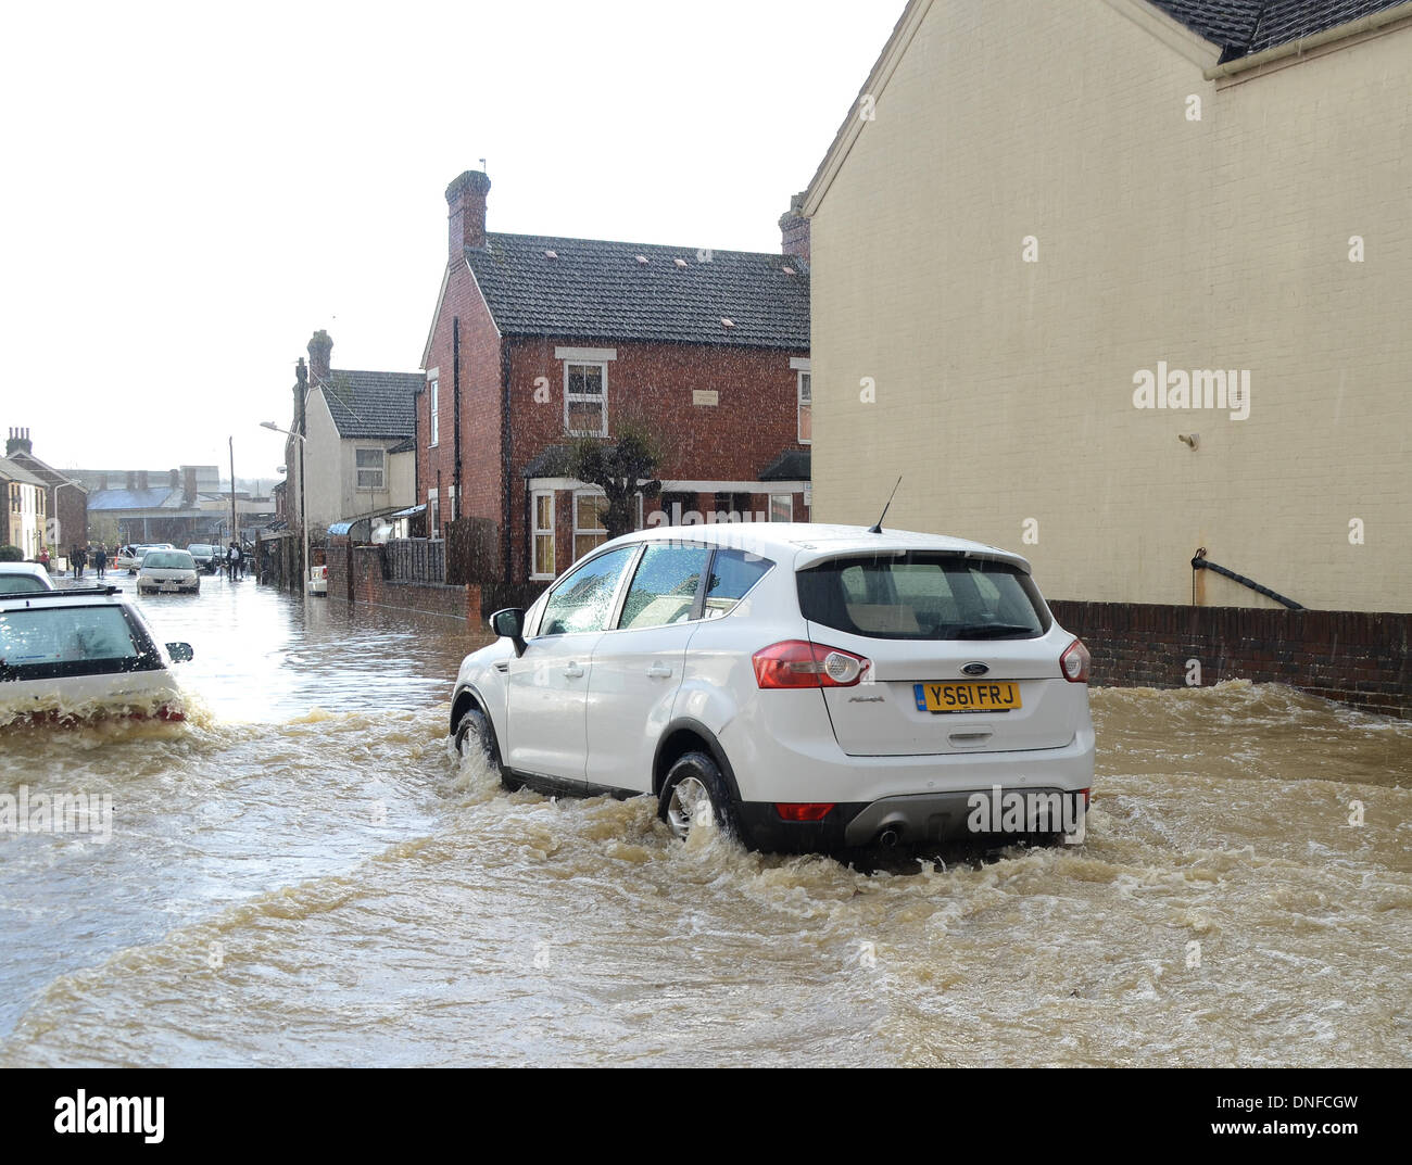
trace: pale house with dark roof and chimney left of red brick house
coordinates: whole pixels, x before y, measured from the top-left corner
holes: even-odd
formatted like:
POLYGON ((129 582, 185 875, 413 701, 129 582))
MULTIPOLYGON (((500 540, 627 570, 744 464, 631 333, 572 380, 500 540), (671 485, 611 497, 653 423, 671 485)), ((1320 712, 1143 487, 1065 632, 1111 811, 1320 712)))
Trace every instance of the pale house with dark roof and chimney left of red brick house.
POLYGON ((294 424, 306 443, 285 448, 285 513, 299 528, 302 453, 309 537, 321 541, 337 521, 391 514, 415 500, 415 391, 419 373, 356 371, 330 367, 333 340, 318 330, 309 364, 299 362, 294 386, 294 424))

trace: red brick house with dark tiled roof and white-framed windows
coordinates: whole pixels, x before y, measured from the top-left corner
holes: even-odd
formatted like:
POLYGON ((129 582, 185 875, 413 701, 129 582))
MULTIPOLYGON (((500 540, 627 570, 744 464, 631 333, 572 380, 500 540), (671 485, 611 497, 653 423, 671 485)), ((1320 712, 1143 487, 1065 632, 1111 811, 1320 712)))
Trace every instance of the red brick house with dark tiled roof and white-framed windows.
POLYGON ((422 357, 417 497, 438 537, 496 522, 504 582, 604 538, 600 493, 556 474, 566 432, 633 412, 671 435, 640 522, 808 521, 808 225, 779 254, 497 234, 490 179, 446 189, 449 254, 422 357))

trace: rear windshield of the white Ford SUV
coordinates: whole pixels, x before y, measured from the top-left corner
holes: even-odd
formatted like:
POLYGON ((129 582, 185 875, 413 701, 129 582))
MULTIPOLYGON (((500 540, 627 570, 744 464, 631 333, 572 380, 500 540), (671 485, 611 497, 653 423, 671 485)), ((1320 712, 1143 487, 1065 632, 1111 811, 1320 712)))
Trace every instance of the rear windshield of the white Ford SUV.
POLYGON ((911 552, 799 572, 810 623, 875 640, 1022 640, 1049 630, 1029 575, 1008 562, 911 552))

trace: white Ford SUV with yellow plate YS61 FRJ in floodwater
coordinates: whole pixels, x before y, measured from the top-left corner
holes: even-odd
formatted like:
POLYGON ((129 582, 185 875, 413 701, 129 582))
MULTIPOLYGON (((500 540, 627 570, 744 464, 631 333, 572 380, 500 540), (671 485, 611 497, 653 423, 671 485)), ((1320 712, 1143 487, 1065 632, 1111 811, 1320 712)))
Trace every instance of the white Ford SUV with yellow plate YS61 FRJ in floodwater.
POLYGON ((994 546, 645 530, 490 626, 501 638, 462 664, 450 730, 510 788, 652 795, 681 837, 722 826, 788 852, 1072 839, 1087 808, 1089 652, 1029 563, 994 546))

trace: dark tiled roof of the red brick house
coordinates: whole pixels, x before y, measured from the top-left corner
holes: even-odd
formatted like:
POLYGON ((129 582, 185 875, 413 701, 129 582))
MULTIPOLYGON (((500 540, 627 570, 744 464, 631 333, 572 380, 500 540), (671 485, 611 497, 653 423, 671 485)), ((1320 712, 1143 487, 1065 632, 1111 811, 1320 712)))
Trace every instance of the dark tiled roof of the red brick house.
POLYGON ((486 243, 466 260, 501 335, 809 347, 809 270, 794 256, 541 234, 486 243))

